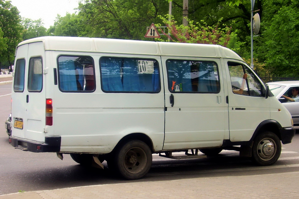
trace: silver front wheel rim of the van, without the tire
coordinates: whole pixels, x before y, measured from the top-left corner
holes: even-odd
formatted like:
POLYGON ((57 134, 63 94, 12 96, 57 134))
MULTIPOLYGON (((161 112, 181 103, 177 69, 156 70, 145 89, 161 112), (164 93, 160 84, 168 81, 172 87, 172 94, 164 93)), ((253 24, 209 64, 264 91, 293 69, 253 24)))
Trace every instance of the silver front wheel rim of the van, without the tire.
POLYGON ((277 145, 272 138, 263 138, 257 145, 257 154, 263 161, 271 160, 277 151, 277 145))

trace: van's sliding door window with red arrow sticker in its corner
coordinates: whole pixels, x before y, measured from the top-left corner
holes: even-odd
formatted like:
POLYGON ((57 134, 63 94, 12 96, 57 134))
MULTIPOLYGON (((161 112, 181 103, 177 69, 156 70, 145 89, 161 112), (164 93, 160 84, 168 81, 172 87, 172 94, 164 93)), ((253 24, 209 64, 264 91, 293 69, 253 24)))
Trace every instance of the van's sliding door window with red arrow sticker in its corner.
POLYGON ((217 64, 213 61, 167 60, 170 92, 219 93, 217 64))

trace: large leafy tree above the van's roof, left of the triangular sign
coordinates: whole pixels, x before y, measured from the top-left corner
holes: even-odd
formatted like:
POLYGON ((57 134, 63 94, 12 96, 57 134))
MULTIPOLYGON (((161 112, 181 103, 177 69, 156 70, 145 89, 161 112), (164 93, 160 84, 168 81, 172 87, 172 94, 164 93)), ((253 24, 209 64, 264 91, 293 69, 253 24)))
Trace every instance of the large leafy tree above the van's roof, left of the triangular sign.
POLYGON ((161 22, 165 14, 165 0, 86 0, 79 5, 78 15, 89 23, 86 30, 90 37, 145 39, 146 27, 161 22))

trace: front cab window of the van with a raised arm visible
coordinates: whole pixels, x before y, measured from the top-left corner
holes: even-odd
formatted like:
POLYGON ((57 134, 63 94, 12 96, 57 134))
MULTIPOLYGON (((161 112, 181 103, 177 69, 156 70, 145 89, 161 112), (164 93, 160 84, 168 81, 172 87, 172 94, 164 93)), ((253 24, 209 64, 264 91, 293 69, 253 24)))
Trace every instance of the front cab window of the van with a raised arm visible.
POLYGON ((231 87, 234 94, 262 96, 261 83, 251 70, 245 65, 228 62, 228 70, 231 76, 231 87), (247 74, 247 77, 244 74, 247 74))

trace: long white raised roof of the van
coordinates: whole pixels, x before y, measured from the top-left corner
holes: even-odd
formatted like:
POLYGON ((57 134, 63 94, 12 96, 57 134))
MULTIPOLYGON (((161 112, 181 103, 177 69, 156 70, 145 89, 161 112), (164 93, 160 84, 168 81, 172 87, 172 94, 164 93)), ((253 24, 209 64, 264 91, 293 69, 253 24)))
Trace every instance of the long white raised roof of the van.
POLYGON ((43 42, 45 51, 164 55, 180 57, 231 58, 242 61, 234 51, 212 44, 137 41, 125 39, 45 36, 22 41, 24 44, 43 42))

